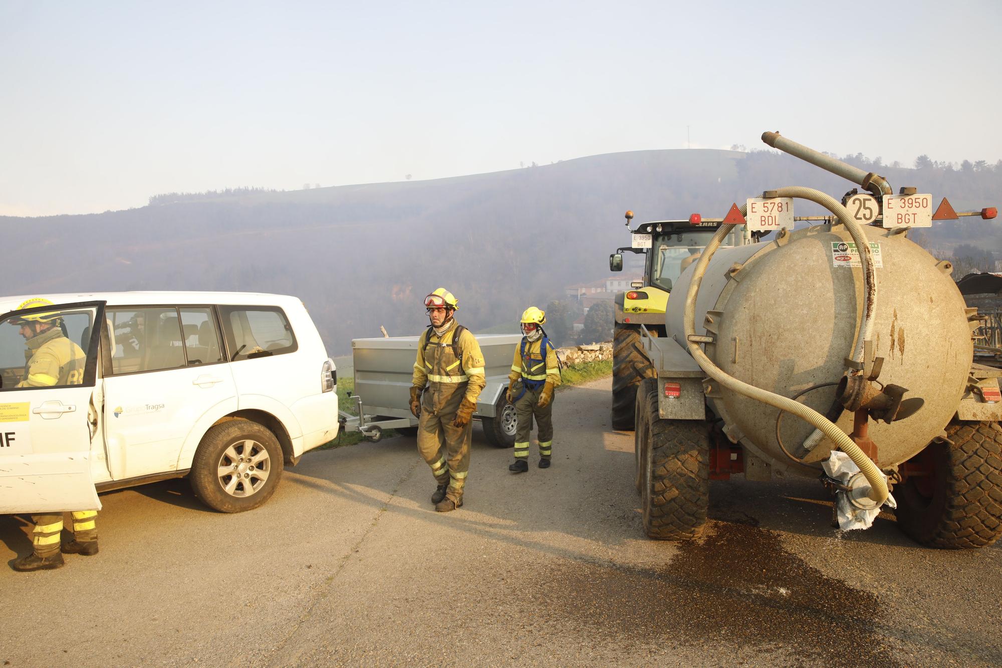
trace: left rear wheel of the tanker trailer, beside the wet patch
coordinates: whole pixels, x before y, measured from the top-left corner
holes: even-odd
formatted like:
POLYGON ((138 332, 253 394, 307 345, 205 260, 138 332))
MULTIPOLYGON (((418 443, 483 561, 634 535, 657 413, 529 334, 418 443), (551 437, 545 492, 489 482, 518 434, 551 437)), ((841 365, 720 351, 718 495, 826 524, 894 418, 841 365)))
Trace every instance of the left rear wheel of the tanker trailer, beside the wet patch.
POLYGON ((659 418, 656 391, 647 394, 642 412, 647 418, 640 491, 643 532, 647 538, 661 541, 696 538, 709 509, 706 423, 659 418))

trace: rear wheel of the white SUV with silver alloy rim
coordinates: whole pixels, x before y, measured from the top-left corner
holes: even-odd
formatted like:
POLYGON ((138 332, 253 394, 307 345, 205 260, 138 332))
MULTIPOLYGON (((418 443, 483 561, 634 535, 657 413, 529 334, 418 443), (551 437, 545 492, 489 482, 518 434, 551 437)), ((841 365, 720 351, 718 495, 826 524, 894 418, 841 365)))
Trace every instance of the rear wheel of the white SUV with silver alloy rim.
POLYGON ((213 510, 242 513, 271 497, 283 467, 274 433, 250 420, 228 420, 201 439, 191 462, 191 487, 213 510))

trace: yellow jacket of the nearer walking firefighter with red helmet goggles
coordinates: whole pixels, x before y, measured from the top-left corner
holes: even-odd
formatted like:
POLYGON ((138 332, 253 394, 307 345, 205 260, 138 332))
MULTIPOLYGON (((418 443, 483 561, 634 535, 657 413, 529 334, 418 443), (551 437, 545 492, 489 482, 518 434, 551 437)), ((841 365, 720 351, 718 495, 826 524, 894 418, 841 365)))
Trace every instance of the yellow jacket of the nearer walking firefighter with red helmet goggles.
MULTIPOLYGON (((468 329, 459 335, 459 350, 462 359, 456 358, 452 338, 456 332, 456 321, 442 336, 428 329, 418 337, 418 356, 414 362, 411 382, 415 387, 428 386, 432 409, 438 412, 457 395, 477 402, 480 391, 487 384, 484 376, 484 353, 480 344, 468 329), (425 346, 425 341, 428 345, 425 346), (460 394, 462 393, 462 394, 460 394)), ((459 406, 459 401, 454 402, 459 406)))

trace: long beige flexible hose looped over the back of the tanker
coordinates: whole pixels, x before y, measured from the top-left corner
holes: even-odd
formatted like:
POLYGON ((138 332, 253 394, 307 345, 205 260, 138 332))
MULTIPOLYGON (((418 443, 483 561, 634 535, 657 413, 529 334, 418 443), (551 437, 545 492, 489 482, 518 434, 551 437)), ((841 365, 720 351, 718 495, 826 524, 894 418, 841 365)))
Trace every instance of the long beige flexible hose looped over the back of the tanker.
MULTIPOLYGON (((873 313, 877 299, 877 284, 874 280, 873 259, 870 256, 870 245, 862 227, 849 215, 849 212, 845 207, 839 204, 832 197, 826 195, 825 193, 821 193, 820 191, 799 187, 784 188, 776 192, 776 197, 795 197, 816 202, 838 216, 839 220, 846 226, 850 235, 852 235, 853 241, 856 243, 857 249, 860 253, 864 277, 864 317, 863 321, 860 323, 860 331, 857 334, 857 341, 853 350, 852 359, 857 363, 862 362, 864 343, 868 340, 870 332, 873 330, 873 313)), ((740 212, 741 216, 746 215, 747 207, 742 206, 740 208, 740 212)), ((702 275, 706 271, 706 266, 709 264, 709 260, 713 256, 713 253, 716 252, 733 227, 733 225, 721 225, 717 228, 713 238, 703 249, 702 253, 699 254, 699 259, 696 260, 695 267, 692 270, 692 278, 689 280, 688 294, 685 297, 685 312, 683 316, 685 345, 688 348, 689 354, 692 355, 692 358, 696 361, 699 367, 706 372, 706 375, 727 389, 755 399, 756 401, 767 403, 771 406, 779 408, 780 410, 793 413, 817 427, 824 435, 831 438, 839 449, 849 455, 849 458, 852 459, 857 466, 859 466, 860 471, 870 483, 870 493, 868 496, 877 503, 878 506, 883 506, 884 502, 887 500, 889 493, 887 481, 884 479, 884 475, 880 472, 877 464, 875 464, 870 457, 868 457, 863 450, 861 450, 860 447, 853 442, 853 439, 850 438, 848 434, 840 429, 834 422, 810 406, 794 401, 793 399, 787 398, 781 394, 776 394, 774 392, 764 390, 761 387, 749 385, 748 383, 738 380, 733 376, 727 375, 715 364, 713 364, 712 360, 710 360, 702 351, 702 348, 699 347, 699 344, 692 340, 692 337, 696 336, 695 302, 696 296, 699 293, 699 284, 702 281, 702 275)), ((854 366, 850 369, 850 373, 853 372, 859 373, 859 370, 854 366)))

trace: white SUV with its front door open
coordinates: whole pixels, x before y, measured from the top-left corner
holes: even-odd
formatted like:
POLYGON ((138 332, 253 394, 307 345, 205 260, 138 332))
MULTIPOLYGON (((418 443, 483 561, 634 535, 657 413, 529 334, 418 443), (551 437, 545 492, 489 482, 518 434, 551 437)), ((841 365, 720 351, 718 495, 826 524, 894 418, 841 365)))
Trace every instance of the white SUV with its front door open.
POLYGON ((338 433, 334 362, 295 297, 31 295, 0 313, 0 514, 96 510, 98 491, 182 475, 248 511, 338 433), (46 341, 73 371, 29 377, 32 320, 61 330, 46 341))

